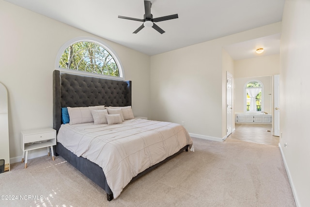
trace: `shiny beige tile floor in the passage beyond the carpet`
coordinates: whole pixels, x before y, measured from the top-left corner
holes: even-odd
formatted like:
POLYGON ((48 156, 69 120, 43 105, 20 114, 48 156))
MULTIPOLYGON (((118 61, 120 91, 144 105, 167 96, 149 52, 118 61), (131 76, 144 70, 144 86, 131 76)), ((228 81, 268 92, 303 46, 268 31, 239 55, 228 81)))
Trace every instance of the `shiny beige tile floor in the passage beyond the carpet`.
POLYGON ((227 139, 278 146, 279 137, 272 135, 271 128, 265 124, 235 124, 235 131, 227 139))

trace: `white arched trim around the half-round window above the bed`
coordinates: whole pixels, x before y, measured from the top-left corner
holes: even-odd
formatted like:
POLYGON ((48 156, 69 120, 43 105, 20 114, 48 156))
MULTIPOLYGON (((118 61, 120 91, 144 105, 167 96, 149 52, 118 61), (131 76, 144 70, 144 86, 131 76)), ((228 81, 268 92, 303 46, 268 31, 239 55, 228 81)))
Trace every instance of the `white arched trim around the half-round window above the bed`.
MULTIPOLYGON (((63 51, 66 48, 68 48, 70 45, 73 45, 73 44, 75 44, 77 42, 83 42, 83 41, 93 42, 93 43, 96 43, 98 45, 101 45, 103 48, 105 48, 112 55, 112 57, 114 58, 117 66, 118 66, 120 77, 113 77, 113 76, 97 74, 98 76, 100 76, 100 77, 104 76, 104 77, 109 78, 109 79, 117 78, 117 79, 120 79, 120 80, 125 80, 124 69, 123 69, 123 65, 121 63, 120 58, 117 56, 117 54, 114 52, 114 50, 111 47, 109 47, 109 45, 107 43, 105 43, 104 41, 102 41, 100 39, 94 38, 94 37, 76 37, 74 39, 71 39, 71 40, 67 41, 65 44, 63 44, 62 47, 58 50, 58 53, 57 53, 57 56, 56 56, 56 60, 55 60, 55 68, 56 68, 56 70, 65 69, 65 68, 60 68, 59 67, 59 60, 62 57, 63 51)), ((70 69, 68 69, 68 70, 70 70, 70 69)), ((71 70, 71 71, 73 71, 73 73, 77 73, 78 70, 71 70)), ((80 71, 80 72, 83 72, 83 71, 80 71)), ((91 74, 89 72, 85 72, 85 73, 91 74)))

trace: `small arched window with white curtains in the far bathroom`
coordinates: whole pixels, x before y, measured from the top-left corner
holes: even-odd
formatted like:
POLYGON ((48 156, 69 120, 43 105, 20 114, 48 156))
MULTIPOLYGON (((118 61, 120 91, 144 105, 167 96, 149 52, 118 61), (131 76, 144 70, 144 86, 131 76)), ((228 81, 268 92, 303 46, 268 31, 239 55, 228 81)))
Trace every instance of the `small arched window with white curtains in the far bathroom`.
POLYGON ((263 111, 263 83, 250 80, 245 85, 245 111, 263 111))

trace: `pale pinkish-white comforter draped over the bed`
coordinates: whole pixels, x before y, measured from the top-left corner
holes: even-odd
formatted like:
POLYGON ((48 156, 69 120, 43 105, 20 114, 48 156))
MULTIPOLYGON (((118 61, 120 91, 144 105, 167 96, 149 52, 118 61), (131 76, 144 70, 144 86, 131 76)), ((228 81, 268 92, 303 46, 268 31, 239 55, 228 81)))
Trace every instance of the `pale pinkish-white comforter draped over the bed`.
POLYGON ((140 172, 189 144, 186 129, 170 122, 132 119, 116 125, 62 125, 57 141, 102 167, 114 198, 140 172))

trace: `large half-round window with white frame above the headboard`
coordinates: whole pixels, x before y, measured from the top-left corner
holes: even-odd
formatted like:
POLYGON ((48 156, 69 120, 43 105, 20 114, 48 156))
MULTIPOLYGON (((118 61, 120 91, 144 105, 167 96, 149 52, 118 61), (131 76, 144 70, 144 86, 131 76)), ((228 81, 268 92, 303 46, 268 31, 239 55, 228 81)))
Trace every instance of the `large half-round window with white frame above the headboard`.
POLYGON ((58 55, 59 68, 100 74, 113 79, 123 79, 120 61, 109 47, 90 38, 65 44, 58 55))

